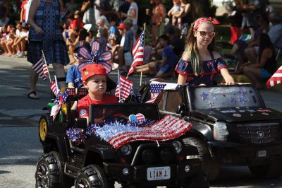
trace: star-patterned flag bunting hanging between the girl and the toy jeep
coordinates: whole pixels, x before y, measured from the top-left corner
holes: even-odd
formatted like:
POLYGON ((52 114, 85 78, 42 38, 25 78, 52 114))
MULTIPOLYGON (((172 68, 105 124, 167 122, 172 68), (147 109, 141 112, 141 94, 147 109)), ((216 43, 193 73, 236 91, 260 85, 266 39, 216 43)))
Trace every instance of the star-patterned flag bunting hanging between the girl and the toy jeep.
POLYGON ((180 85, 176 83, 160 83, 153 81, 152 83, 150 83, 149 87, 151 99, 147 100, 147 103, 154 103, 161 90, 177 90, 178 88, 180 88, 180 85))

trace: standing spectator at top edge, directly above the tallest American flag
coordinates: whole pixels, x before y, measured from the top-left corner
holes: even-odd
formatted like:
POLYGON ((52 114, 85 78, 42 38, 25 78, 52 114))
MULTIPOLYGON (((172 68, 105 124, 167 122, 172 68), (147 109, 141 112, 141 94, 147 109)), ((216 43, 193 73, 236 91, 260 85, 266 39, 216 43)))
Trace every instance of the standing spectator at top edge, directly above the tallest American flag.
POLYGON ((128 9, 128 13, 127 14, 121 13, 121 16, 123 18, 128 18, 128 19, 133 20, 133 25, 132 25, 131 30, 133 30, 133 33, 135 34, 137 32, 137 29, 138 29, 138 25, 137 25, 137 21, 138 21, 138 6, 135 3, 135 1, 133 1, 133 0, 126 0, 126 1, 128 1, 130 3, 130 7, 128 9))

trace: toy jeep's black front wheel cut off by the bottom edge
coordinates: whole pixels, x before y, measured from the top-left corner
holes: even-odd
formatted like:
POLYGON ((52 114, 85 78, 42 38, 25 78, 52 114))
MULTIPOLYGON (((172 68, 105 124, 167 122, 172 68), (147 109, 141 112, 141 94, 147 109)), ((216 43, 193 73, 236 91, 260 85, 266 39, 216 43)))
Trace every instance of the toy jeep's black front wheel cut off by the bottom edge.
POLYGON ((75 179, 75 187, 108 188, 109 184, 102 168, 100 168, 98 165, 88 165, 78 172, 78 176, 75 179))

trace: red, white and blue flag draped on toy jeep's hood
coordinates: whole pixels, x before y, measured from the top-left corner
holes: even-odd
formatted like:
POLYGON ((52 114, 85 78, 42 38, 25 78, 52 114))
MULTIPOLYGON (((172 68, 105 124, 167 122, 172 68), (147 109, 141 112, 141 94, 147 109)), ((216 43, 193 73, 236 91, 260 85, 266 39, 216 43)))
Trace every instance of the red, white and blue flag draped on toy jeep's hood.
MULTIPOLYGON (((119 124, 118 126, 120 127, 121 125, 119 124)), ((126 125, 123 129, 120 129, 123 131, 117 131, 112 125, 105 125, 97 129, 96 134, 110 143, 111 146, 114 146, 114 148, 119 148, 132 141, 167 141, 175 139, 185 134, 191 127, 192 124, 190 122, 172 115, 166 115, 159 122, 155 122, 148 127, 140 127, 133 130, 126 125), (107 134, 103 134, 103 131, 106 131, 107 134)))

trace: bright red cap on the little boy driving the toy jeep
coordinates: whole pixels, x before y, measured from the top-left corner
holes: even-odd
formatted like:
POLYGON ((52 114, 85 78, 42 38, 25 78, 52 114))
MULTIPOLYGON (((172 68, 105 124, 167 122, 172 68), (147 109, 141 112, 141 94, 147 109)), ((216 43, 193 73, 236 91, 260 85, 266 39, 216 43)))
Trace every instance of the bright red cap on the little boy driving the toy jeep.
POLYGON ((87 81, 88 78, 94 75, 104 75, 108 77, 106 69, 100 64, 87 64, 83 66, 81 71, 82 81, 87 81))

